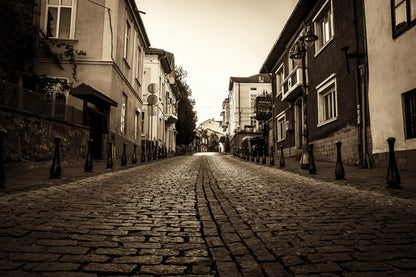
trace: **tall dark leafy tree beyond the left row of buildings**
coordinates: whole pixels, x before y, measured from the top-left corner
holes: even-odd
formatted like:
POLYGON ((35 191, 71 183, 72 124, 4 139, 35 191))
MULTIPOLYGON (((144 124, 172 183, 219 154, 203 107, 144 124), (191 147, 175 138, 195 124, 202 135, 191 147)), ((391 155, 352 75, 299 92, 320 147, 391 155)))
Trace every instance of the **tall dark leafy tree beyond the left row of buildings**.
POLYGON ((194 130, 196 127, 197 117, 194 111, 195 100, 191 99, 192 90, 186 82, 188 73, 181 67, 175 67, 175 81, 179 93, 178 103, 178 121, 176 122, 176 143, 178 145, 189 145, 194 139, 194 130))

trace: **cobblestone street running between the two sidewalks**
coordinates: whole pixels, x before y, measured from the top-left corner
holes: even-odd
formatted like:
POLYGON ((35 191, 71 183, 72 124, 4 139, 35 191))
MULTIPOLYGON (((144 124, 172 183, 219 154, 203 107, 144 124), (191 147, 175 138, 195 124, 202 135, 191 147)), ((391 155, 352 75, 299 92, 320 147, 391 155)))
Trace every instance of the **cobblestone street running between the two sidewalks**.
POLYGON ((416 202, 196 154, 0 197, 1 276, 415 276, 416 202))

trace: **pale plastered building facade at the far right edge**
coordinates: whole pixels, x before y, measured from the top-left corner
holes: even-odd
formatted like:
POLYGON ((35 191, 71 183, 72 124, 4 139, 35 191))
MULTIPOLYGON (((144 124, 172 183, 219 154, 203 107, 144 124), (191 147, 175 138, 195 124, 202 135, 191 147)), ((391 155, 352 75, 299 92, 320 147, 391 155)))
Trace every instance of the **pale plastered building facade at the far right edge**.
POLYGON ((368 101, 375 165, 394 137, 399 169, 416 170, 416 2, 365 0, 368 101))

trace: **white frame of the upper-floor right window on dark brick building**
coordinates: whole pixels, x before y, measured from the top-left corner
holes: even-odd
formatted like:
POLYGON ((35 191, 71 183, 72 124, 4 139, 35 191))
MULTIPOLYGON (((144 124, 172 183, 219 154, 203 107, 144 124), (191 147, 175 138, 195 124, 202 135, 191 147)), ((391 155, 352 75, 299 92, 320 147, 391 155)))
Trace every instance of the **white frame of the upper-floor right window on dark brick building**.
POLYGON ((327 0, 322 7, 319 9, 319 11, 316 13, 314 18, 312 19, 313 22, 313 28, 314 33, 318 36, 318 40, 315 41, 315 57, 322 52, 323 49, 326 48, 328 44, 331 43, 331 41, 335 38, 335 28, 334 28, 334 9, 332 0, 327 0), (330 36, 328 40, 325 42, 323 41, 324 36, 322 35, 322 20, 327 17, 329 14, 329 31, 330 36))

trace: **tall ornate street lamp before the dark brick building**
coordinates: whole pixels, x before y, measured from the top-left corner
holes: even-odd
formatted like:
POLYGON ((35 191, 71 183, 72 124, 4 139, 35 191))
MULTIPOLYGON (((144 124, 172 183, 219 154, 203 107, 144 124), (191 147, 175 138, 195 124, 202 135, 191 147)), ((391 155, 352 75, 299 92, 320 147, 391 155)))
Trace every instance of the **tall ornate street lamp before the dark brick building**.
POLYGON ((308 123, 307 123, 307 85, 306 85, 306 50, 314 41, 318 40, 318 36, 313 34, 311 26, 307 25, 300 34, 295 45, 289 52, 289 57, 294 60, 302 60, 302 102, 303 102, 303 126, 302 126, 302 156, 300 159, 300 167, 309 169, 309 139, 308 139, 308 123))

